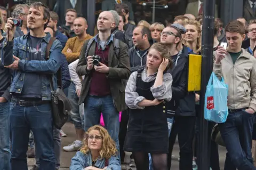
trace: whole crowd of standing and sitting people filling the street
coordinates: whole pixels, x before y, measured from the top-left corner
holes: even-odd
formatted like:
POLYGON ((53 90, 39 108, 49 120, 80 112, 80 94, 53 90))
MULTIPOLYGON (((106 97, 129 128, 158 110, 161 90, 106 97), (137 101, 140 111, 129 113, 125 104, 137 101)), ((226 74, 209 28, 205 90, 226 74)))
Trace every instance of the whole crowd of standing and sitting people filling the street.
MULTIPOLYGON (((36 159, 33 170, 60 168, 61 137, 67 135, 53 124, 49 79, 54 75, 56 88, 59 68, 76 131, 76 140, 62 148, 78 151, 70 169, 119 170, 124 151, 132 152, 131 167, 171 169, 177 136, 179 169, 197 169, 203 113, 200 92, 188 92, 187 84, 188 55, 202 51, 202 15, 134 25, 129 12, 124 3, 102 11, 95 35, 74 9, 61 27, 60 16, 40 2, 15 6, 10 18, 0 13, 0 169, 28 169, 27 157, 36 159)), ((229 115, 218 124, 225 170, 256 169, 255 42, 256 20, 238 18, 223 28, 215 18, 213 72, 228 84, 229 115)), ((209 134, 215 126, 209 122, 209 134)), ((218 143, 211 140, 209 150, 210 168, 220 170, 218 143)))

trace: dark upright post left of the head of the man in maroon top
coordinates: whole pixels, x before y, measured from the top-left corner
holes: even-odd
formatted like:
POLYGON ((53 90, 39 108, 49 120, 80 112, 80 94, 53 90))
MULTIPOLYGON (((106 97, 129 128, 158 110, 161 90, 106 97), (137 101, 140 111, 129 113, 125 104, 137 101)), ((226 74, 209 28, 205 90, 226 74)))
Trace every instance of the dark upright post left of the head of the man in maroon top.
POLYGON ((95 27, 95 0, 87 0, 87 33, 94 35, 95 27))

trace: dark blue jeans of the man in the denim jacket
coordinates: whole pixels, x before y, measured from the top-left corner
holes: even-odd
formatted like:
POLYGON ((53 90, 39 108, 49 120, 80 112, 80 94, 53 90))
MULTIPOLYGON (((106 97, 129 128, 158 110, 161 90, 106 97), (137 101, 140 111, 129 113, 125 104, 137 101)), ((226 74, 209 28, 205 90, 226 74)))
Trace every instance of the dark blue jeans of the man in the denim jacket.
POLYGON ((51 104, 23 107, 11 102, 10 106, 13 170, 27 170, 27 148, 30 129, 40 161, 39 169, 55 169, 52 135, 51 104))

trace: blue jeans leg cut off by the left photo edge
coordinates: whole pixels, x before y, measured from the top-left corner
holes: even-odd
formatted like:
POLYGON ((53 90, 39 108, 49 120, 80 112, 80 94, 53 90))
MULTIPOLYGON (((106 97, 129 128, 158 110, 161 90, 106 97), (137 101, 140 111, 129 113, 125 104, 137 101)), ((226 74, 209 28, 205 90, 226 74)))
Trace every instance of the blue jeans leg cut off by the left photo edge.
POLYGON ((9 106, 9 102, 0 103, 0 169, 3 170, 11 170, 9 106))

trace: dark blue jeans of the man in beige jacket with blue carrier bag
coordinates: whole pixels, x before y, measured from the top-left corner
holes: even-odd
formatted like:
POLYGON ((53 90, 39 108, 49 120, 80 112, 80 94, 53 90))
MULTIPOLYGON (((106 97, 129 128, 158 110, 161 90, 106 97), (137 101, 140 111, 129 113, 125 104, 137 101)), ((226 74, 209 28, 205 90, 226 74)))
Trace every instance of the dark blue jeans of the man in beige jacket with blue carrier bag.
POLYGON ((220 134, 226 144, 225 170, 252 170, 252 129, 254 115, 245 111, 230 112, 227 121, 218 124, 220 134))

